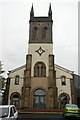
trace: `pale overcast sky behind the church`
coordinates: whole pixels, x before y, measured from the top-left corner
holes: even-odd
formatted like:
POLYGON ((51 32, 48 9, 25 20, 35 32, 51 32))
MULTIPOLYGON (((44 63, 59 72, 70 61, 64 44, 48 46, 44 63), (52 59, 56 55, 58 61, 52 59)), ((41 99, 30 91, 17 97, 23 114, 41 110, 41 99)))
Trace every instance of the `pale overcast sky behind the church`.
POLYGON ((6 73, 26 63, 31 6, 35 16, 53 12, 55 63, 78 73, 78 0, 0 0, 0 60, 6 73))

